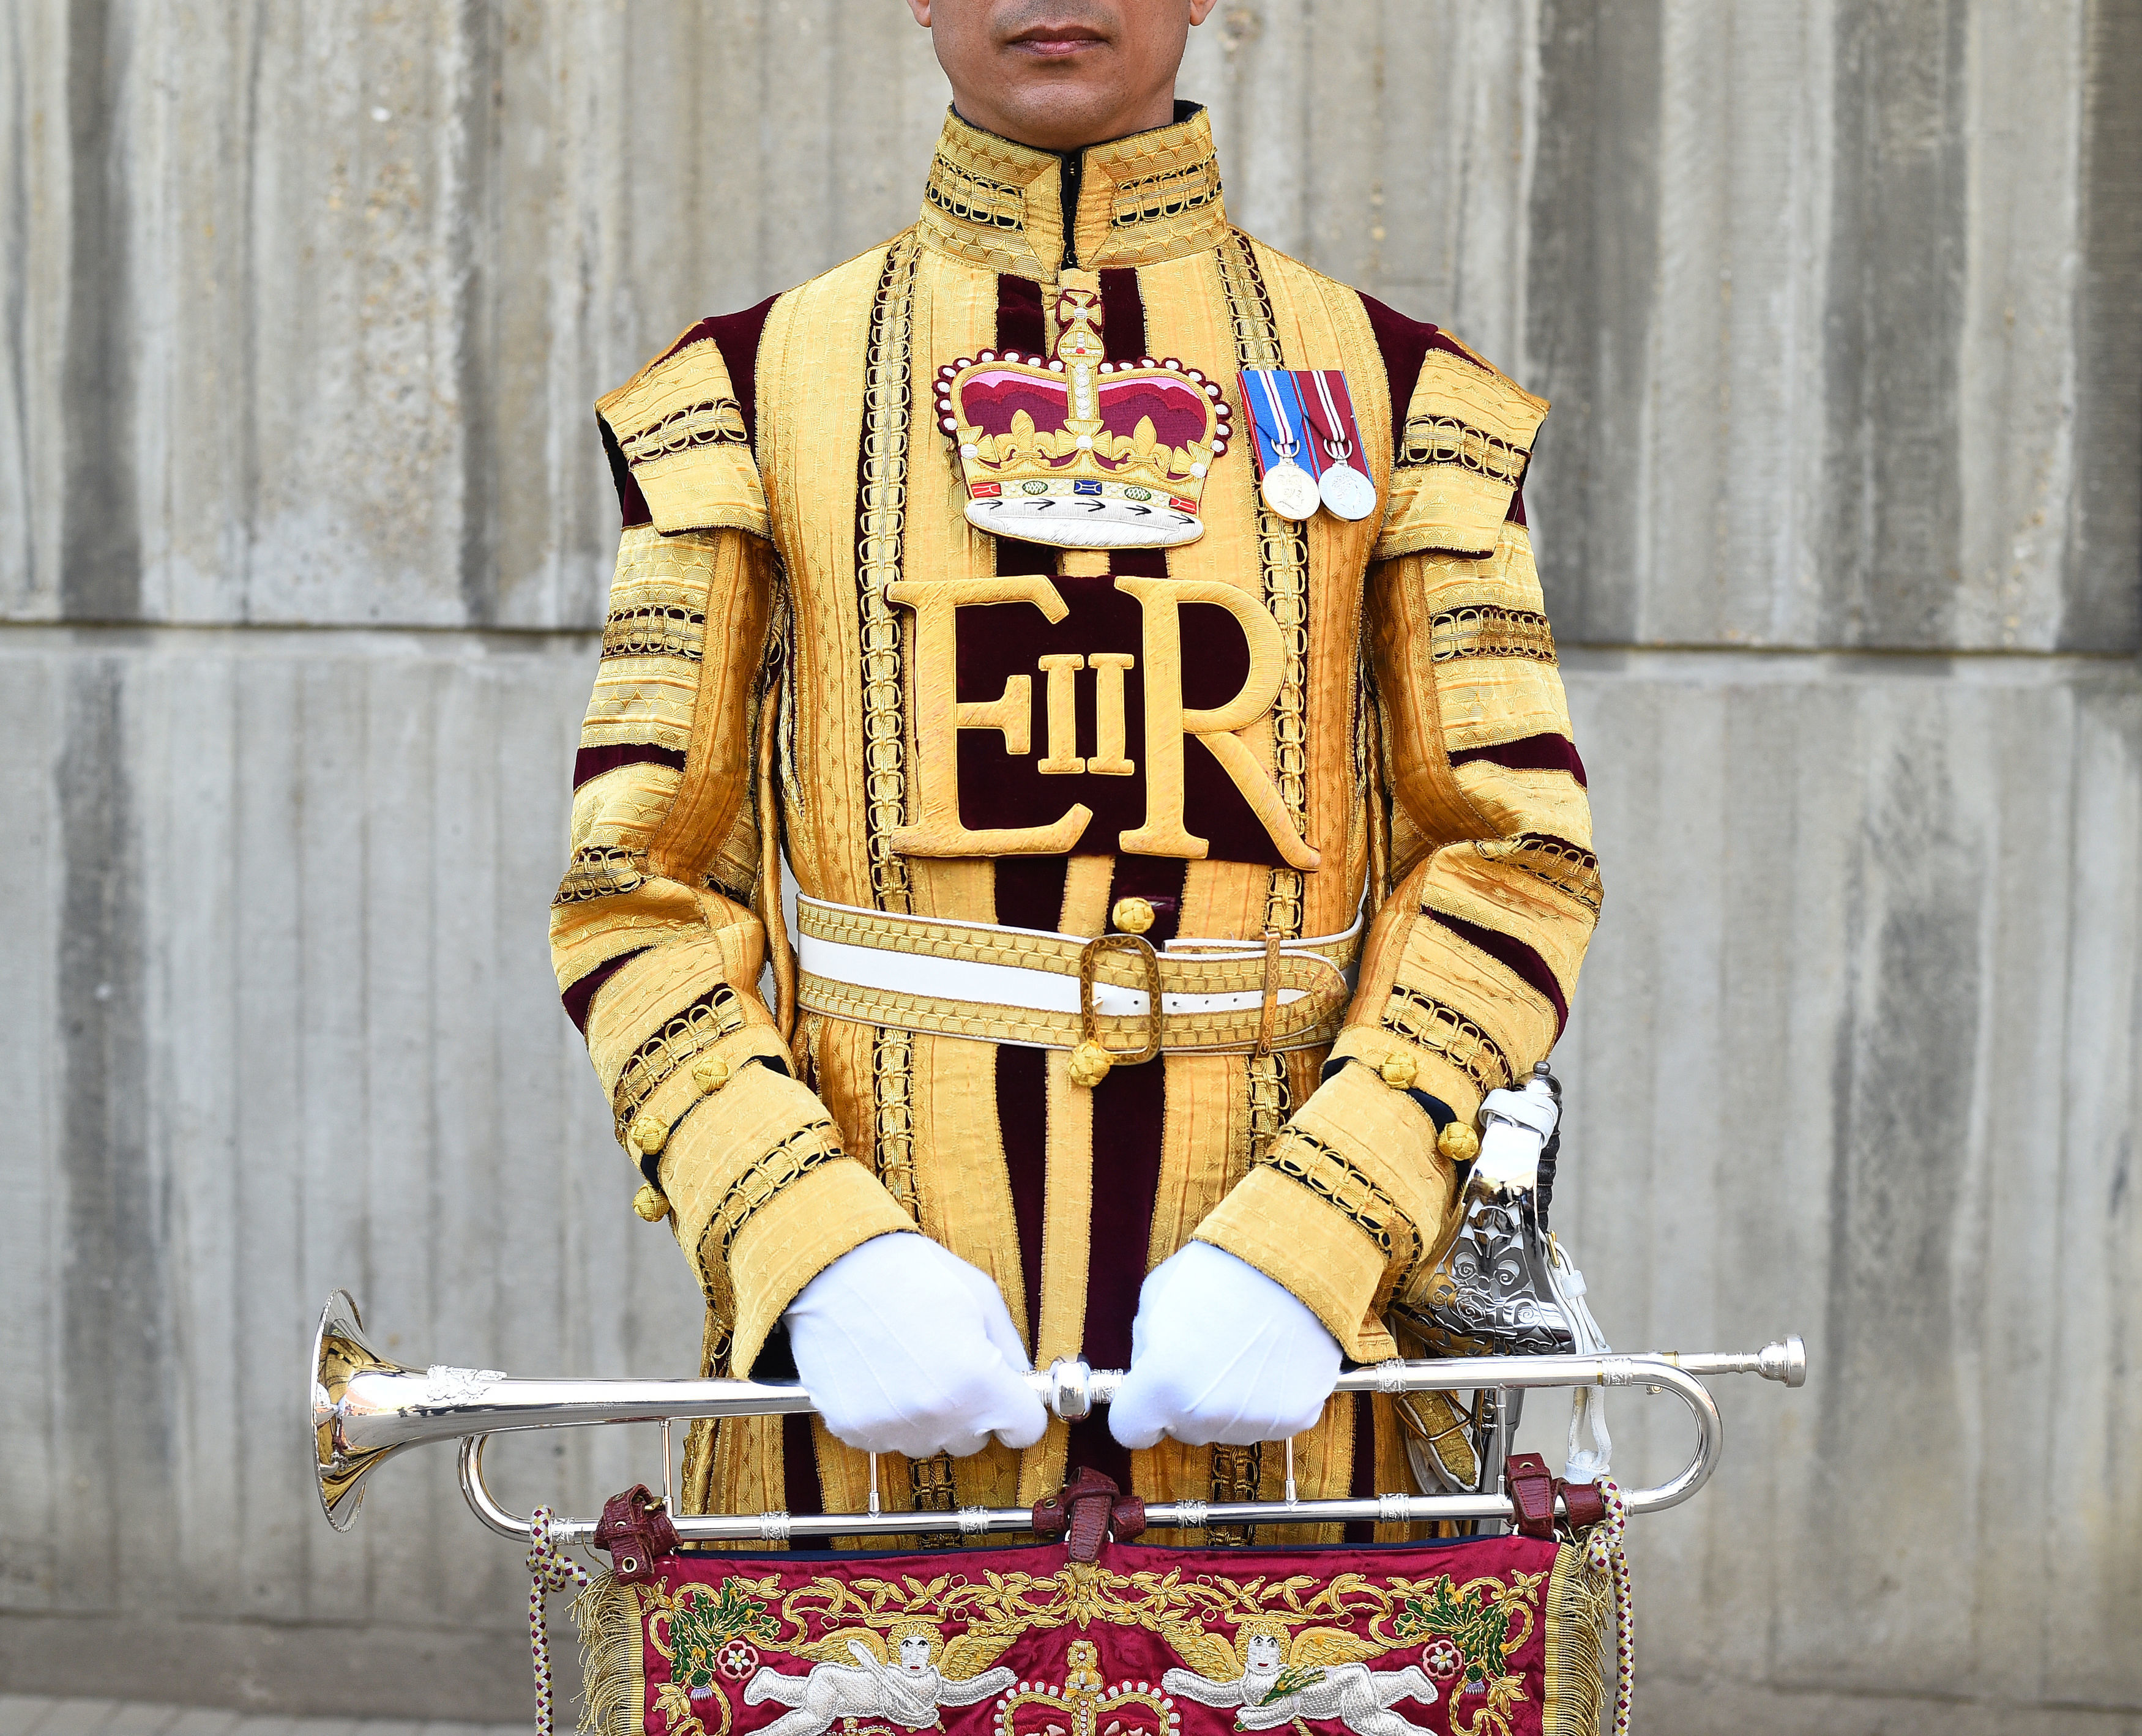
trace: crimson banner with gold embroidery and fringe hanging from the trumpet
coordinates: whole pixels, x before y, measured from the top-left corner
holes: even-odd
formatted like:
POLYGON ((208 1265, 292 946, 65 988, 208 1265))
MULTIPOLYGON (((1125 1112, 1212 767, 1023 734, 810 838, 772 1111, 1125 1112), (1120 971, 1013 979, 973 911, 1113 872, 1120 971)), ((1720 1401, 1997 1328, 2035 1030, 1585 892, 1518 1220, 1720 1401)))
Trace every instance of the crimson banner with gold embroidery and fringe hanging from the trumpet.
POLYGON ((598 1736, 1589 1736, 1572 1543, 664 1556, 574 1610, 598 1736))

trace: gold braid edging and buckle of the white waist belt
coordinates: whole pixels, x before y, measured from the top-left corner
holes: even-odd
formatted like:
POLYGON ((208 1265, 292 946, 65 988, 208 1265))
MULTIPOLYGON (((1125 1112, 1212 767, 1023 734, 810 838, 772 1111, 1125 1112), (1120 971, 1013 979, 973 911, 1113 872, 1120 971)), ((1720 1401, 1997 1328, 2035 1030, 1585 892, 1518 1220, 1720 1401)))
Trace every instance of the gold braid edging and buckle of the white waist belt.
MULTIPOLYGON (((1360 948, 1360 933, 1315 942, 1270 946, 1264 940, 1189 942, 1185 950, 1131 948, 1131 935, 1052 935, 1005 929, 990 923, 940 923, 885 910, 853 910, 814 899, 797 901, 797 931, 810 940, 868 946, 917 959, 975 965, 1009 965, 1069 978, 1077 989, 1075 1010, 1007 1006, 979 998, 951 998, 848 983, 805 965, 797 1002, 829 1019, 848 1019, 906 1032, 966 1036, 981 1042, 1028 1042, 1043 1049, 1075 1049, 1097 1038, 1118 1060, 1144 1060, 1146 1051, 1257 1053, 1315 1049, 1330 1042, 1345 1019, 1352 987, 1347 968, 1360 948), (1095 985, 1142 989, 1146 1012, 1101 1012, 1095 985), (1253 995, 1240 1008, 1150 1012, 1150 989, 1161 995, 1253 995), (1279 1002, 1285 989, 1296 1000, 1279 1002)), ((1182 942, 1178 942, 1182 946, 1182 942)), ((985 978, 981 980, 985 983, 985 978)))

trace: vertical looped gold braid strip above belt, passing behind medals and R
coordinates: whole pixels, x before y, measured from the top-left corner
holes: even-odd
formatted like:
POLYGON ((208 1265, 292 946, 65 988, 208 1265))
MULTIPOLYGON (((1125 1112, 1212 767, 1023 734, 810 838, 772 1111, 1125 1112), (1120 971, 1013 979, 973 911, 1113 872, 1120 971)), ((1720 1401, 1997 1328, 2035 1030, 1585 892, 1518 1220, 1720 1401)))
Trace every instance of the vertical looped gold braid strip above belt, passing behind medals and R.
MULTIPOLYGON (((1279 334, 1272 323, 1272 298, 1264 289, 1249 238, 1230 229, 1219 246, 1219 276, 1227 291, 1227 315, 1234 323, 1234 360, 1238 368, 1281 368, 1279 334)), ((1257 546, 1264 565, 1264 601, 1279 623, 1281 679, 1272 715, 1272 768, 1279 777, 1279 798, 1298 837, 1309 835, 1309 749, 1307 749, 1307 685, 1309 685, 1309 542, 1302 527, 1281 518, 1259 503, 1257 546)), ((1264 927, 1281 935, 1302 931, 1302 875, 1294 867, 1272 869, 1264 901, 1264 927)))

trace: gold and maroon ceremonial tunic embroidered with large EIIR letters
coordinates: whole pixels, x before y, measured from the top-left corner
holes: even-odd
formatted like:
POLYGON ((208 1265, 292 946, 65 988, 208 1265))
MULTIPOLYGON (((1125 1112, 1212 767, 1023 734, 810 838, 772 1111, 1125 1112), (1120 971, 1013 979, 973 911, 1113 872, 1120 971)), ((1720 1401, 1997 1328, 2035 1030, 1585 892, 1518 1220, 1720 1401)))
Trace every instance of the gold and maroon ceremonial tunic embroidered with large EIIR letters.
MULTIPOLYGON (((1452 1218, 1439 1124, 1553 1047, 1600 905, 1519 494, 1544 413, 1230 227, 1200 111, 1071 156, 953 116, 910 229, 602 400, 625 531, 550 938, 705 1291, 709 1374, 765 1368, 812 1276, 910 1227, 996 1278, 1039 1366, 1122 1366, 1140 1280, 1191 1237, 1349 1357, 1394 1353, 1390 1299, 1452 1218), (1343 370, 1377 509, 1274 516, 1245 437, 1180 484, 1193 542, 979 529, 938 383, 1047 368, 1067 319, 1107 368, 1217 385, 1240 430, 1245 368, 1343 370), (1172 942, 1270 935, 1266 1002, 1358 983, 1289 991, 1279 1040, 1270 1006, 1262 1034, 1170 1025, 1086 1085, 1062 1017, 799 983, 782 848, 808 935, 1069 970, 1129 929, 1182 983, 1223 968, 1172 942)), ((1140 980, 1127 957, 1099 976, 1140 980)), ((1137 1047, 1137 1019, 1103 1025, 1137 1047)), ((1412 1483, 1388 1400, 1334 1398, 1296 1449, 1304 1496, 1412 1483)), ((889 1498, 1024 1505, 1067 1458, 1146 1498, 1279 1477, 1277 1451, 1170 1441, 1122 1464, 1097 1417, 895 1466, 889 1498)), ((801 1419, 737 1421, 694 1432, 688 1488, 855 1509, 865 1468, 801 1419)))

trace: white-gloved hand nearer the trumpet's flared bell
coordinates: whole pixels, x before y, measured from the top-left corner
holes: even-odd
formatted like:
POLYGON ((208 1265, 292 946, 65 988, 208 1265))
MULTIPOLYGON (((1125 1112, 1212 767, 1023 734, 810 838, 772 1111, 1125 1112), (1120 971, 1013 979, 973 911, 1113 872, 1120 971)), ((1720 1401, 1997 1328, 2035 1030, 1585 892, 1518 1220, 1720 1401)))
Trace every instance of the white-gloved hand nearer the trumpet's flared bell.
POLYGON ((981 1271, 923 1235, 876 1235, 812 1278, 782 1314, 803 1389, 865 1453, 1032 1447, 1050 1415, 1026 1349, 981 1271))

